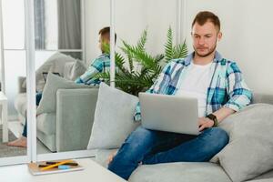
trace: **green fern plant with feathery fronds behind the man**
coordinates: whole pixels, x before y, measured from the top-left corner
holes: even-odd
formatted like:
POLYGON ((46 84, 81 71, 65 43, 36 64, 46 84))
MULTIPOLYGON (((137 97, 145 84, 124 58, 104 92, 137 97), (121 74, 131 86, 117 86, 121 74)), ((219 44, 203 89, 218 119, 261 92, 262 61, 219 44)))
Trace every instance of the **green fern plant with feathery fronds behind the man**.
MULTIPOLYGON (((139 92, 146 91, 153 85, 157 76, 162 72, 163 66, 175 58, 187 56, 187 45, 173 45, 173 33, 171 27, 167 30, 167 43, 165 53, 152 56, 147 53, 145 45, 147 43, 147 30, 144 30, 136 45, 129 45, 122 41, 121 48, 123 55, 116 53, 116 87, 128 94, 137 96, 139 92), (127 63, 127 66, 126 66, 127 63), (140 69, 136 68, 140 66, 140 69)), ((104 45, 109 53, 109 45, 104 45)), ((98 73, 96 78, 103 79, 107 84, 110 82, 110 73, 98 73)))

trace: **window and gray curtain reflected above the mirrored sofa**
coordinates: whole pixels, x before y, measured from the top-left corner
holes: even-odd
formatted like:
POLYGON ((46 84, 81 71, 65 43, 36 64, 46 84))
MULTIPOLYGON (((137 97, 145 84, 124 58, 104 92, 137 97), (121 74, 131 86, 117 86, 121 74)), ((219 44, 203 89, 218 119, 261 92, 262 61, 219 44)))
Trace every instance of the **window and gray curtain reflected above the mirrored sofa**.
POLYGON ((81 49, 81 1, 35 0, 35 49, 81 49))

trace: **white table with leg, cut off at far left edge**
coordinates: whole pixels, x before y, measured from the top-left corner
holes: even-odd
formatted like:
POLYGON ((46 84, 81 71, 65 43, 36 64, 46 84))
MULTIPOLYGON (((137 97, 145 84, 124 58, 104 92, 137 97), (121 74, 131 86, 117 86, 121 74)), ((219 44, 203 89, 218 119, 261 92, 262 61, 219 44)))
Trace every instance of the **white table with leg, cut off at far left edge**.
POLYGON ((7 127, 7 97, 3 92, 0 92, 0 105, 1 109, 1 124, 2 124, 2 132, 3 132, 3 142, 8 142, 8 127, 7 127))

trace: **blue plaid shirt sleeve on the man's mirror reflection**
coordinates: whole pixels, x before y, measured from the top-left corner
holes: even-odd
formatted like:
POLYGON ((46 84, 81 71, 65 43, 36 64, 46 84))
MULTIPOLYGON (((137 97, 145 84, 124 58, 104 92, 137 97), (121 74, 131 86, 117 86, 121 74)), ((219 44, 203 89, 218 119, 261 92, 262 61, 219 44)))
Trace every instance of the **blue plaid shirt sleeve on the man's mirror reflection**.
POLYGON ((101 73, 103 71, 103 68, 103 61, 100 59, 95 59, 93 64, 87 68, 86 72, 82 76, 76 78, 75 83, 86 84, 89 80, 96 76, 97 73, 101 73))

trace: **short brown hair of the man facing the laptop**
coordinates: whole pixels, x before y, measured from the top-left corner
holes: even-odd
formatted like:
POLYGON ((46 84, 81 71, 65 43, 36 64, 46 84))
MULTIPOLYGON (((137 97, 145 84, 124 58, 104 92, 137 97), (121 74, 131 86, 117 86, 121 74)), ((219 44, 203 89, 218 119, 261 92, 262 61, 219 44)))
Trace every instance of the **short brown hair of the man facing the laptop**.
POLYGON ((193 20, 191 27, 193 27, 196 23, 198 25, 204 25, 207 22, 211 22, 218 28, 218 31, 220 31, 220 20, 218 16, 209 11, 199 12, 193 20))

